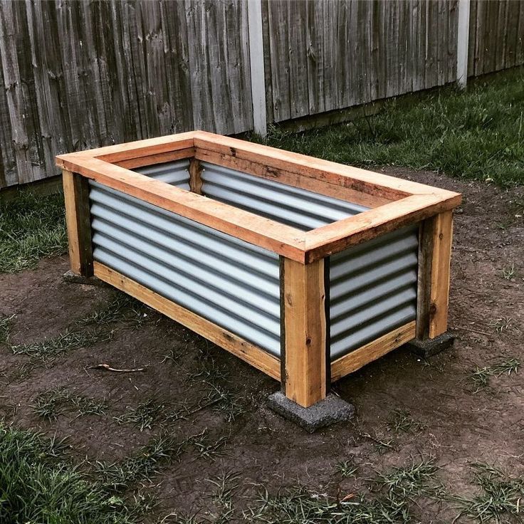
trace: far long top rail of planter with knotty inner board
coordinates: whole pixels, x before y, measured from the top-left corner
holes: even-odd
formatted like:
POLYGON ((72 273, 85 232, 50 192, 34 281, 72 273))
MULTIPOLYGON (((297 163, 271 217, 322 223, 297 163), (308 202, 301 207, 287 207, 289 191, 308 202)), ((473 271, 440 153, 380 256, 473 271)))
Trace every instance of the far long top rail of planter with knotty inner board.
POLYGON ((209 150, 239 159, 251 160, 252 162, 295 172, 303 177, 313 177, 330 184, 349 187, 355 191, 380 196, 388 200, 398 200, 412 194, 434 194, 436 192, 442 196, 456 194, 418 182, 390 177, 387 174, 308 157, 305 154, 278 150, 275 147, 254 144, 236 138, 214 135, 209 132, 195 131, 193 137, 196 150, 209 150))

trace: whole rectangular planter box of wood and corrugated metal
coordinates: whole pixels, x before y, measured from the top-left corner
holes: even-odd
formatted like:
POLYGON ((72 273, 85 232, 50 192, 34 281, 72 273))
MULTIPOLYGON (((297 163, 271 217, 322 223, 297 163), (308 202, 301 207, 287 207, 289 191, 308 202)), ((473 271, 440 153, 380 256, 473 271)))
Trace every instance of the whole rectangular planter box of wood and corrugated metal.
POLYGON ((201 131, 57 164, 74 273, 281 380, 303 407, 446 331, 460 194, 201 131))

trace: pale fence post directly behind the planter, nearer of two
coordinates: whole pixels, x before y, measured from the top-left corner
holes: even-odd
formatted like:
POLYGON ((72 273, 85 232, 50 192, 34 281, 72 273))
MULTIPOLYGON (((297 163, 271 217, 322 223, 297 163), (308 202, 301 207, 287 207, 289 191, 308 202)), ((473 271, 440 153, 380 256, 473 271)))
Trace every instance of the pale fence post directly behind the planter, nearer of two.
POLYGON ((251 98, 253 100, 253 127, 266 136, 266 77, 262 36, 261 0, 248 0, 249 68, 251 70, 251 98))

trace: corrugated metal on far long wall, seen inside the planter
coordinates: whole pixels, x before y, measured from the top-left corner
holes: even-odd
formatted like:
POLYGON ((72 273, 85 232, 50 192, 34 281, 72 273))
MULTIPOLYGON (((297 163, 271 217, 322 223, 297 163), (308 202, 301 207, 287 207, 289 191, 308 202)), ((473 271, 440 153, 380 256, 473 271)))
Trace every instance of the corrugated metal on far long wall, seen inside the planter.
POLYGON ((369 209, 236 169, 208 162, 201 162, 201 165, 204 195, 303 231, 369 209))

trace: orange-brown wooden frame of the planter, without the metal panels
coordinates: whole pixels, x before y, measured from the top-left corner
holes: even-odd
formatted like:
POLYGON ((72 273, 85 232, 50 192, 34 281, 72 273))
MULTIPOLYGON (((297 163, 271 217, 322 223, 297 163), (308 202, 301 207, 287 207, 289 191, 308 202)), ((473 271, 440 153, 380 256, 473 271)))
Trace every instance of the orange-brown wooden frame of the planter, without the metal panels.
POLYGON ((354 372, 414 337, 434 338, 446 331, 452 210, 460 204, 460 194, 202 131, 63 154, 57 157, 57 165, 63 169, 73 272, 94 273, 281 379, 285 394, 302 406, 325 397, 330 380, 354 372), (190 162, 190 192, 130 171, 184 158, 190 162), (371 209, 299 231, 203 196, 200 162, 371 209), (281 256, 282 362, 103 264, 93 264, 87 179, 281 256), (327 365, 327 257, 409 224, 421 224, 416 323, 401 326, 327 365))

